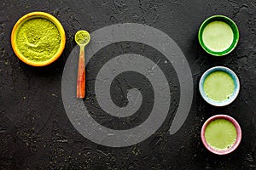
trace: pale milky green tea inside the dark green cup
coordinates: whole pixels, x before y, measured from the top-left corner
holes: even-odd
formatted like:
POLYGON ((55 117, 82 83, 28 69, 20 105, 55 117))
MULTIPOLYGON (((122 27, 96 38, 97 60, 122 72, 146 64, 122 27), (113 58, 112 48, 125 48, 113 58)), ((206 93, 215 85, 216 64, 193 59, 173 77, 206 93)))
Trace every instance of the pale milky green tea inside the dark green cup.
POLYGON ((223 21, 212 21, 202 33, 204 44, 214 52, 222 52, 230 48, 233 39, 231 27, 223 21))

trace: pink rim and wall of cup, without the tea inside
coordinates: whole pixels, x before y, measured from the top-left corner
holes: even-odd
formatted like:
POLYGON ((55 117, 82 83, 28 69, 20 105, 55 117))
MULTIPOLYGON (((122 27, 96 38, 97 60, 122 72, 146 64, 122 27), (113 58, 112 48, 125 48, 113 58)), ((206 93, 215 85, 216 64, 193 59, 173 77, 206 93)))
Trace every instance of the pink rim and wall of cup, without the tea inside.
POLYGON ((217 154, 217 155, 229 154, 229 153, 233 152, 234 150, 236 150, 236 148, 241 143, 241 127, 240 127, 239 123, 236 122, 236 119, 234 119, 231 116, 228 116, 228 115, 215 115, 215 116, 211 116, 210 118, 207 119, 206 122, 204 122, 203 126, 201 127, 201 141, 204 144, 204 146, 207 148, 207 150, 211 151, 214 154, 217 154), (216 149, 212 148, 207 143, 207 140, 205 138, 205 131, 206 131, 207 125, 210 122, 212 122, 212 121, 214 121, 216 119, 225 119, 227 121, 230 121, 236 127, 236 142, 228 150, 216 150, 216 149))

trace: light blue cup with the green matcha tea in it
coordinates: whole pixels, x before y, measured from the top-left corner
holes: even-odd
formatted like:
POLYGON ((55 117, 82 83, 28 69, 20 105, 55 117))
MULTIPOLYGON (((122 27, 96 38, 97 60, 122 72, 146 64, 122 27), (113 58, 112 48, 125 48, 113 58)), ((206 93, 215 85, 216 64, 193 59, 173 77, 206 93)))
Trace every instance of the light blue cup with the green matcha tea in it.
POLYGON ((200 94, 207 103, 215 106, 229 105, 240 89, 240 82, 234 71, 224 66, 212 67, 201 77, 200 94))

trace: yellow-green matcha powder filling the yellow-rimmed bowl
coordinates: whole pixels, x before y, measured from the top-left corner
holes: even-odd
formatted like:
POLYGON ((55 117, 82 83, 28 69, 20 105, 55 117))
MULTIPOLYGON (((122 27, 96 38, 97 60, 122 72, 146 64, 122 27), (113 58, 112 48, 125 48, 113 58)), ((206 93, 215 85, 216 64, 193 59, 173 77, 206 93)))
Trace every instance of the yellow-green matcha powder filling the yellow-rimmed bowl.
POLYGON ((46 19, 27 20, 16 35, 18 51, 34 62, 46 61, 55 56, 60 44, 60 32, 55 24, 46 19))

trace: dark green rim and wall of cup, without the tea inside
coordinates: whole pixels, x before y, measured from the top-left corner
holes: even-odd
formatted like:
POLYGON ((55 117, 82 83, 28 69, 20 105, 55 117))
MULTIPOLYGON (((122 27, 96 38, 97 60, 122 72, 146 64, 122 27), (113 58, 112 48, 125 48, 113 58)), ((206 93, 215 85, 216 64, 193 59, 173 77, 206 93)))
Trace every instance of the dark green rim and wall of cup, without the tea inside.
POLYGON ((212 15, 211 17, 207 18, 206 20, 204 20, 199 28, 198 31, 198 40, 200 42, 201 48, 203 48, 208 54, 212 54, 214 56, 224 56, 226 54, 230 54, 235 48, 236 45, 239 41, 239 30, 238 27, 236 26, 236 23, 231 20, 229 17, 224 16, 224 15, 212 15), (230 45, 229 48, 225 49, 224 51, 221 52, 216 52, 216 51, 212 51, 211 49, 207 48, 207 46, 205 45, 205 43, 202 40, 202 33, 205 29, 205 27, 212 21, 216 21, 216 20, 220 20, 220 21, 224 21, 226 24, 228 24, 232 31, 233 31, 233 35, 234 35, 234 39, 232 44, 230 45))

